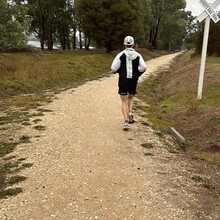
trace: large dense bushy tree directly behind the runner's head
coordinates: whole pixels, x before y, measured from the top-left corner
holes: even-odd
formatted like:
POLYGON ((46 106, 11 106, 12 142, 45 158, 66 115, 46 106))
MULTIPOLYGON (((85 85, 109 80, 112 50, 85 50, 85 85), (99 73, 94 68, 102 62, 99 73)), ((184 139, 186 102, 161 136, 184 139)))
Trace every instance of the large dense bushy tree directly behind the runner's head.
POLYGON ((140 0, 76 0, 77 17, 85 35, 111 52, 125 35, 143 30, 140 0))

